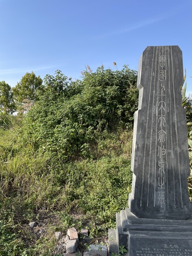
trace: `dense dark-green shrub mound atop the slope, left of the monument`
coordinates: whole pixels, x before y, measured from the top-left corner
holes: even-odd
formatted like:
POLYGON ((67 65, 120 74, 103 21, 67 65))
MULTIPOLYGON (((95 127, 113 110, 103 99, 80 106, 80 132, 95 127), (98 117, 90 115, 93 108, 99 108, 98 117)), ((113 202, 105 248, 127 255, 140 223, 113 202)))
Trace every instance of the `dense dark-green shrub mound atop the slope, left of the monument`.
POLYGON ((47 76, 44 94, 24 119, 26 142, 66 160, 94 157, 92 147, 104 131, 132 127, 138 105, 136 79, 137 73, 126 66, 122 71, 86 71, 76 82, 67 82, 59 71, 47 76))

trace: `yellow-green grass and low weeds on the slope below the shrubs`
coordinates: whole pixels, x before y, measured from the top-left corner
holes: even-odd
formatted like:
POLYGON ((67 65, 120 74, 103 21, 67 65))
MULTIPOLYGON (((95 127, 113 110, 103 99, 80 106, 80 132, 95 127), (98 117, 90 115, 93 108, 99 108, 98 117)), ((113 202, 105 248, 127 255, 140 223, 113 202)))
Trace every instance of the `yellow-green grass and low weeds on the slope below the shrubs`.
POLYGON ((131 140, 132 133, 125 131, 105 133, 92 148, 93 158, 66 163, 45 150, 35 151, 31 145, 24 147, 19 123, 11 124, 9 129, 1 128, 0 251, 3 255, 22 255, 30 250, 38 254, 43 250, 42 244, 45 255, 51 250, 55 243, 53 227, 51 237, 45 237, 42 244, 27 228, 30 221, 40 218, 42 210, 47 214, 60 212, 60 225, 64 229, 75 225, 69 217, 71 213, 87 216, 92 220, 88 226, 93 236, 98 234, 97 224, 103 230, 114 227, 115 213, 127 206, 131 190, 131 140))

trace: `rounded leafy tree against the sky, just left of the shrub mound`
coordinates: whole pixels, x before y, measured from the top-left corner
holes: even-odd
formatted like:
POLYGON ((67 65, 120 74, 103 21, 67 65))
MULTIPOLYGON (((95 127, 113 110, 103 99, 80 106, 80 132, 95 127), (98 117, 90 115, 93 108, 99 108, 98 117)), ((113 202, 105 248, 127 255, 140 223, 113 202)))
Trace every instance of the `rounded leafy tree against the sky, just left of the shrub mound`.
POLYGON ((22 79, 17 82, 13 88, 13 96, 18 105, 22 104, 25 99, 35 101, 38 99, 38 91, 42 91, 42 79, 36 76, 33 71, 26 73, 22 79))

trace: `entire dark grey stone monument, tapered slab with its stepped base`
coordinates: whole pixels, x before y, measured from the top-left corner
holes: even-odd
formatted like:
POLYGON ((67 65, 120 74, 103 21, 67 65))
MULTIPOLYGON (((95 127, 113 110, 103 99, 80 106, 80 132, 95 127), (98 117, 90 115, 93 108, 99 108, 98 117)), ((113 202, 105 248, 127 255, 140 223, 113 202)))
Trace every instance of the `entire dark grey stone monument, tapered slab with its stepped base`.
POLYGON ((192 255, 182 83, 178 46, 145 49, 137 82, 130 208, 116 215, 117 228, 109 230, 110 253, 125 245, 130 256, 192 255))

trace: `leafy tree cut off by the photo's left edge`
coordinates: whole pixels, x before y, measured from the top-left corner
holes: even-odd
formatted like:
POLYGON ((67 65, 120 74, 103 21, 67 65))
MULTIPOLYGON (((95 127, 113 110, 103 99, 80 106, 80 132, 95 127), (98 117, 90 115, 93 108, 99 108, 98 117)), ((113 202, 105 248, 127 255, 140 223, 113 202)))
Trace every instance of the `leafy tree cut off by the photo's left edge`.
POLYGON ((5 81, 0 82, 0 113, 12 114, 15 111, 11 87, 5 81))

